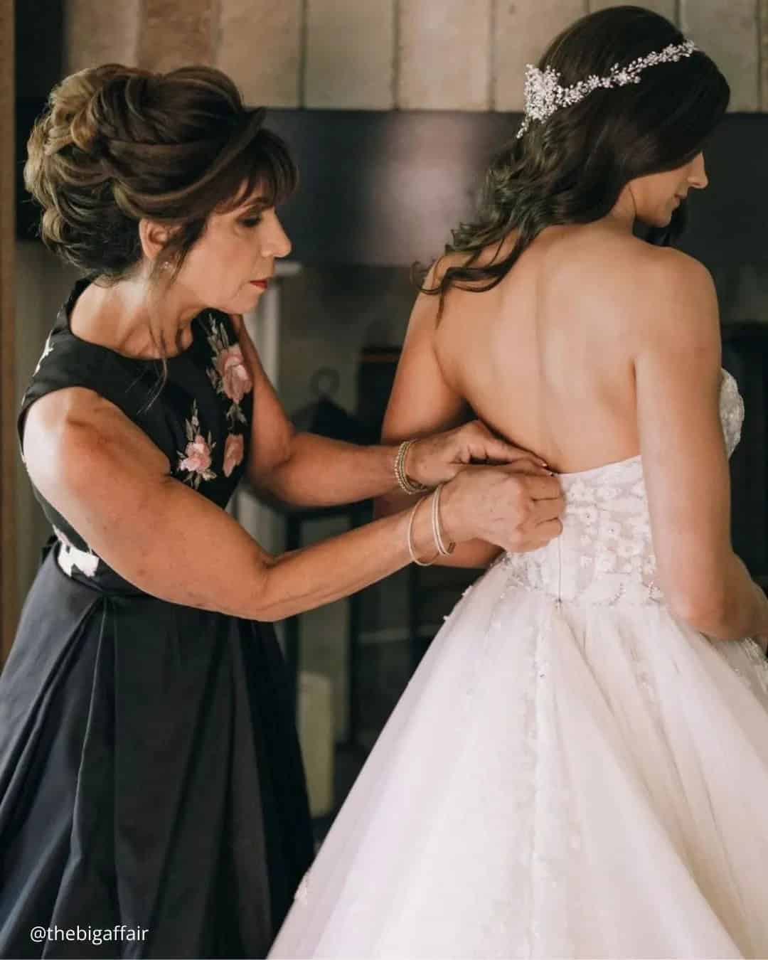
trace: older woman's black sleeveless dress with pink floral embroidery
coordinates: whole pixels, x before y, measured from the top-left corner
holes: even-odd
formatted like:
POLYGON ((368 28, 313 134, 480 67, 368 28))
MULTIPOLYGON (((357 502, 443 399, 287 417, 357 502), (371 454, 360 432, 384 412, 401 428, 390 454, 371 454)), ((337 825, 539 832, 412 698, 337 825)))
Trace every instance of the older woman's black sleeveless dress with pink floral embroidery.
MULTIPOLYGON (((87 387, 224 508, 253 402, 228 316, 195 318, 148 407, 159 362, 72 333, 85 285, 46 342, 19 438, 38 397, 87 387)), ((0 956, 263 957, 312 858, 274 631, 134 588, 36 496, 55 533, 0 675, 0 956), (102 932, 35 943, 36 926, 102 932)))

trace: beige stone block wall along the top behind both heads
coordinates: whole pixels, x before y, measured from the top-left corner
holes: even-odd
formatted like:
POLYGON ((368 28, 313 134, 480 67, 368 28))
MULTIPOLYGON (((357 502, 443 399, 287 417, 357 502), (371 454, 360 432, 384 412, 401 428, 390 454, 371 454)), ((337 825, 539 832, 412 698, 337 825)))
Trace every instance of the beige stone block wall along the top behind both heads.
MULTIPOLYGON (((211 63, 256 104, 518 110, 525 63, 614 0, 65 0, 65 68, 211 63)), ((768 109, 768 0, 642 0, 768 109)))

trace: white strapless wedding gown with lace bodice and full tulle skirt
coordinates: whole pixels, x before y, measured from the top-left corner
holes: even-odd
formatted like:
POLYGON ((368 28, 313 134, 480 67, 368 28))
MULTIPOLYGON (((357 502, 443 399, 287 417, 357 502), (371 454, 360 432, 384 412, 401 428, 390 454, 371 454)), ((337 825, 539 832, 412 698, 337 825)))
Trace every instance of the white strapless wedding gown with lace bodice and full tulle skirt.
MULTIPOLYGON (((743 420, 724 373, 729 452, 743 420)), ((768 665, 656 586, 639 457, 447 618, 270 957, 768 957, 768 665)))

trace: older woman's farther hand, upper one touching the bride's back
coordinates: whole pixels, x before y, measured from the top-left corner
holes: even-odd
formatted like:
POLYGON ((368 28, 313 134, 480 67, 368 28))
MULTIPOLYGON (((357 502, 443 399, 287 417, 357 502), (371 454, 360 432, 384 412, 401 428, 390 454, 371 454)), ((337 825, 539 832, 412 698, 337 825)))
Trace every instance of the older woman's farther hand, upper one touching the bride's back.
POLYGON ((437 487, 469 464, 482 463, 514 464, 525 472, 549 473, 540 457, 494 437, 480 420, 416 441, 403 466, 412 480, 424 487, 437 487))

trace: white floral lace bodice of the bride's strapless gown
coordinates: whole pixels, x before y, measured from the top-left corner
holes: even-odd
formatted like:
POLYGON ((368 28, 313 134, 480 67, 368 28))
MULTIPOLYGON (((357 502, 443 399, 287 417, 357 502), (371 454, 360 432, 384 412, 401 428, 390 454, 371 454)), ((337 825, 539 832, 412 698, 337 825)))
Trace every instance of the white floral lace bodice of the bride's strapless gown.
MULTIPOLYGON (((741 437, 744 403, 723 371, 720 420, 728 454, 741 437)), ((641 458, 564 473, 563 533, 531 553, 501 561, 510 586, 543 590, 558 600, 614 605, 663 602, 641 458)))

